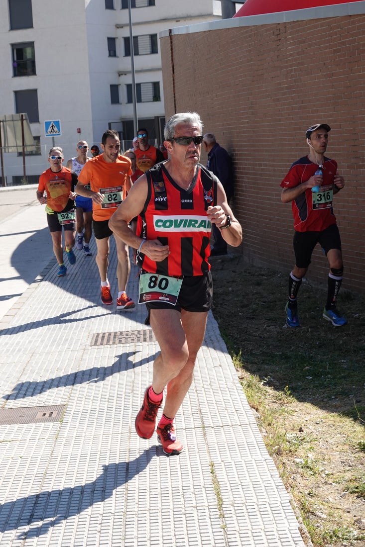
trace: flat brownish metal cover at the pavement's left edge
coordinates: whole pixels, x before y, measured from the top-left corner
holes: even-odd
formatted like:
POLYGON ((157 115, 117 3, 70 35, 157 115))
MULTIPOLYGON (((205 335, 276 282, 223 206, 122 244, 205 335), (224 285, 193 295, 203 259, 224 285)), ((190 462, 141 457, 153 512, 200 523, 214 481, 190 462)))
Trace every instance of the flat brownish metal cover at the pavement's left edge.
POLYGON ((0 426, 20 423, 58 422, 66 405, 0 409, 0 426))

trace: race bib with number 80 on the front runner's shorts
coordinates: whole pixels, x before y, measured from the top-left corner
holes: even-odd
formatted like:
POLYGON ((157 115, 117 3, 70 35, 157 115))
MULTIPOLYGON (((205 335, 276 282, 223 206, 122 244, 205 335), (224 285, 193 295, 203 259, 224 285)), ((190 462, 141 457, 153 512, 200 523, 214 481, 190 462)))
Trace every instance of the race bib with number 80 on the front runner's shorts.
POLYGON ((139 276, 139 304, 169 302, 175 306, 183 278, 141 272, 139 276))

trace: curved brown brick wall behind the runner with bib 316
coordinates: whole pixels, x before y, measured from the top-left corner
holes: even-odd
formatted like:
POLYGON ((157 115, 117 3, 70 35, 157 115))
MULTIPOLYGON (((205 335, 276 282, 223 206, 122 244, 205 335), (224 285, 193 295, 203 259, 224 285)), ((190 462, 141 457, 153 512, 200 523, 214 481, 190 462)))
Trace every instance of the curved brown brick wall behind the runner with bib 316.
MULTIPOLYGON (((365 292, 365 15, 175 34, 161 39, 161 53, 166 118, 175 108, 196 110, 204 132, 232 155, 231 205, 242 253, 254 265, 294 265, 291 206, 281 202, 280 182, 308 153, 307 127, 332 127, 326 155, 346 181, 334 196, 343 286, 365 292)), ((317 246, 307 277, 326 281, 327 272, 317 246)))

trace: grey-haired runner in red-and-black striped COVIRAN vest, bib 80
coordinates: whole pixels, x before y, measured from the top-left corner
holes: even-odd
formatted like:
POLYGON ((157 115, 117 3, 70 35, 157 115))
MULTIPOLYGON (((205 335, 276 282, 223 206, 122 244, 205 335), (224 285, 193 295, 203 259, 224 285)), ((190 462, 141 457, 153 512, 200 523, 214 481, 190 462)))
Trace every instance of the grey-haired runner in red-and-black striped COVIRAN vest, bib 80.
POLYGON ((199 164, 203 141, 199 115, 173 115, 164 137, 169 159, 133 184, 109 225, 118 237, 138 249, 142 268, 139 301, 146 302, 161 350, 153 363, 152 385, 147 387, 135 419, 136 432, 144 439, 152 437, 167 387, 157 439, 170 455, 183 450, 173 422, 191 385, 212 307, 211 227, 216 224, 234 247, 242 241, 242 229, 218 178, 199 164), (129 222, 136 216, 134 234, 129 222))

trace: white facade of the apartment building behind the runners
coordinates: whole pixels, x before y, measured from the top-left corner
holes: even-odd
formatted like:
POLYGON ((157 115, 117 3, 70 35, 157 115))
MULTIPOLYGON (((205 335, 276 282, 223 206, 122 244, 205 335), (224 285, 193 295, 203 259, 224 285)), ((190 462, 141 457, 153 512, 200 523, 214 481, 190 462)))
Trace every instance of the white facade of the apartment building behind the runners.
MULTIPOLYGON (((103 0, 33 0, 33 28, 9 30, 8 0, 0 0, 0 114, 15 112, 14 90, 37 89, 39 123, 31 124, 41 136, 42 156, 26 156, 26 174, 38 175, 48 167, 52 137, 44 135, 45 120, 61 121, 56 146, 64 149, 65 163, 76 154, 76 143, 100 143, 109 123, 133 119, 127 103, 126 84, 132 83, 130 57, 124 57, 124 37, 129 36, 128 9, 106 10, 103 0), (107 37, 115 37, 117 57, 109 57, 107 37), (36 75, 13 77, 10 44, 34 42, 36 75), (110 85, 119 85, 121 104, 111 104, 110 85), (81 133, 77 133, 77 129, 81 133)), ((216 0, 156 0, 156 6, 132 9, 134 36, 220 19, 216 0)), ((199 53, 196 52, 198 55, 199 53)), ((164 116, 161 56, 134 57, 135 82, 159 82, 161 101, 138 103, 138 117, 164 116)), ((115 127, 115 125, 114 125, 115 127)), ((22 158, 4 154, 7 183, 22 176, 22 158)))

